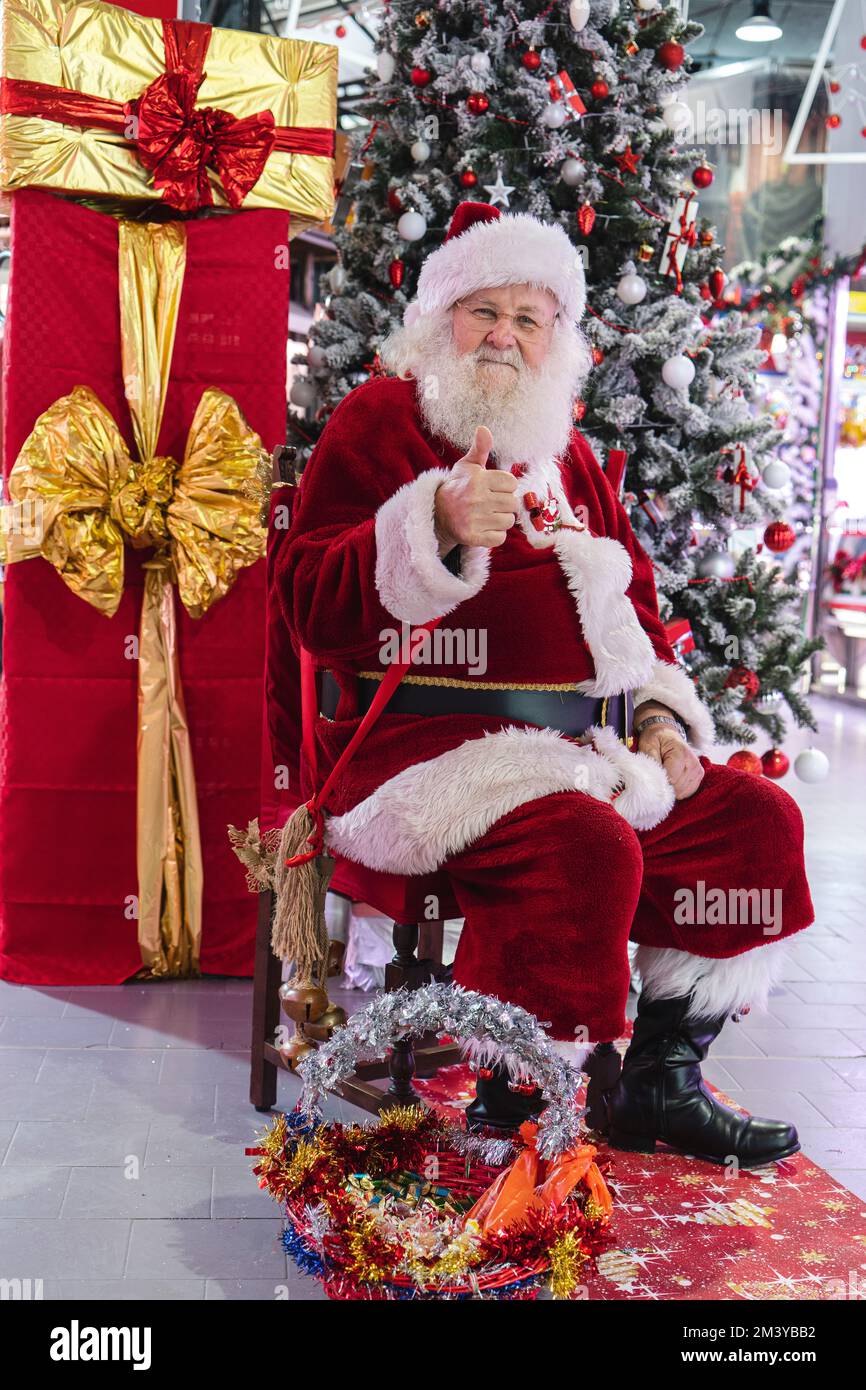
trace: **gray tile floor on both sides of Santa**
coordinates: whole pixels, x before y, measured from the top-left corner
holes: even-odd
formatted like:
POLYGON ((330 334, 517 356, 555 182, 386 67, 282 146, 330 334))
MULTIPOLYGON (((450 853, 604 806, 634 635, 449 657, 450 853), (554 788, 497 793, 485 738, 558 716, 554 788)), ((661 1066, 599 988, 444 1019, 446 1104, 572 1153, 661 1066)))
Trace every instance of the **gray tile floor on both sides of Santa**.
MULTIPOLYGON (((866 713, 817 712, 830 777, 784 783, 806 815, 817 920, 769 1009, 728 1024, 705 1070, 791 1119, 866 1200, 866 713)), ((286 1265, 243 1155, 264 1123, 247 1099, 249 1006, 242 980, 0 981, 0 1276, 42 1279, 46 1298, 321 1297, 286 1265)), ((296 1094, 281 1077, 281 1104, 296 1094)))

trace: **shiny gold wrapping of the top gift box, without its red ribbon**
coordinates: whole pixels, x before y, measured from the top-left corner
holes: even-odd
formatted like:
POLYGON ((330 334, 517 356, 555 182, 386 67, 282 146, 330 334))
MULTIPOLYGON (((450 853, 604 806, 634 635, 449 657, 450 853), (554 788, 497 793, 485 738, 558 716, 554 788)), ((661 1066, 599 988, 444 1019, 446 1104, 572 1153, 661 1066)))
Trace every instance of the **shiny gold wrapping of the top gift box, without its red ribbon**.
MULTIPOLYGON (((165 72, 163 21, 100 0, 3 0, 0 19, 0 188, 36 186, 121 202, 161 197, 135 143, 97 126, 15 115, 14 81, 38 82, 114 103, 132 101, 165 72), (13 79, 8 82, 7 79, 13 79)), ((196 107, 236 118, 270 110, 277 128, 336 122, 336 49, 238 29, 213 29, 196 107)), ((228 207, 209 168, 213 206, 228 207)), ((334 211, 334 160, 272 150, 243 207, 281 207, 292 234, 334 211)))

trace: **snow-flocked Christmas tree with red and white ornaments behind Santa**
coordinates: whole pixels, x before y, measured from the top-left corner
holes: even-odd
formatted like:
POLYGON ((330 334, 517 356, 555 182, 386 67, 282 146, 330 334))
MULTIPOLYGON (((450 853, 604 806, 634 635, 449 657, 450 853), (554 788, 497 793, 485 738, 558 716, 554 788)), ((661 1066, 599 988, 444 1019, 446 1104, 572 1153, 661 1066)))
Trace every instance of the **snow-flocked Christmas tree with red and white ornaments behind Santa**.
POLYGON ((799 684, 796 588, 781 503, 760 480, 777 430, 752 406, 759 332, 724 302, 721 249, 701 217, 712 182, 677 132, 687 44, 701 33, 655 0, 391 0, 360 103, 325 314, 293 389, 302 463, 332 409, 379 371, 424 257, 463 199, 559 222, 587 267, 595 371, 575 420, 601 461, 624 449, 624 502, 655 569, 663 619, 691 624, 687 657, 723 741, 781 741, 799 684))

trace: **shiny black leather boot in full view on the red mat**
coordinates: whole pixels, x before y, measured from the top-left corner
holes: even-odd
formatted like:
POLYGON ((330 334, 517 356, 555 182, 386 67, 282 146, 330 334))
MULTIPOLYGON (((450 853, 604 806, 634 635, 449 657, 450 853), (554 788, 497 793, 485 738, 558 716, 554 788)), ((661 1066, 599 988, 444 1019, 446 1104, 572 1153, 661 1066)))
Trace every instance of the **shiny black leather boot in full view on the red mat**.
POLYGON ((688 1022, 688 995, 638 1002, 623 1074, 607 1097, 613 1148, 653 1154, 662 1140, 709 1163, 760 1168, 799 1150, 792 1125, 741 1115, 721 1105, 701 1076, 701 1062, 727 1015, 688 1022))

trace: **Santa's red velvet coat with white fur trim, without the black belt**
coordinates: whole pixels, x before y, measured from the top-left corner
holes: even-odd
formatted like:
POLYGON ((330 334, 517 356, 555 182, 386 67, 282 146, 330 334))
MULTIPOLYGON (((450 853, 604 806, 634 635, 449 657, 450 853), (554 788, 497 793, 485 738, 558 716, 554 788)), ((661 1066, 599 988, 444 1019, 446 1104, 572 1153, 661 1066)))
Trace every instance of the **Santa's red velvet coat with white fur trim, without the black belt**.
MULTIPOLYGON (((320 773, 357 727, 354 677, 386 667, 402 624, 434 617, 439 632, 485 634, 487 669, 443 641, 407 680, 631 691, 674 709, 705 749, 710 717, 585 441, 575 431, 562 461, 531 461, 520 478, 518 498, 553 498, 573 528, 539 532, 521 506, 502 546, 461 548, 455 575, 438 556, 434 495, 459 457, 425 428, 413 381, 375 378, 338 406, 307 466, 275 581, 293 639, 343 691, 336 719, 317 724, 320 773)), ((578 745, 498 717, 384 714, 329 796, 327 842, 371 869, 425 873, 524 802, 575 788, 638 830, 674 801, 660 766, 612 728, 578 745)))

